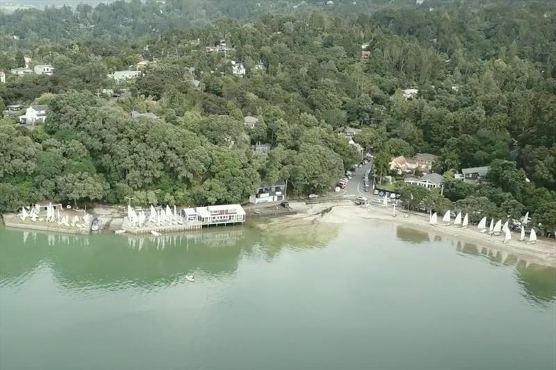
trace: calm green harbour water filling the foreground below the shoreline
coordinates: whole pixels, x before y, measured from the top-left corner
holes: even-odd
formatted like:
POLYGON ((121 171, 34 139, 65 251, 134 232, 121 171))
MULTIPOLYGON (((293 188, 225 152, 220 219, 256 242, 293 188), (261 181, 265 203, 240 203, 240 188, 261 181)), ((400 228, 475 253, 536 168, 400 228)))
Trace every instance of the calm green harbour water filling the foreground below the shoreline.
POLYGON ((0 228, 0 369, 555 369, 556 269, 501 259, 368 221, 0 228))

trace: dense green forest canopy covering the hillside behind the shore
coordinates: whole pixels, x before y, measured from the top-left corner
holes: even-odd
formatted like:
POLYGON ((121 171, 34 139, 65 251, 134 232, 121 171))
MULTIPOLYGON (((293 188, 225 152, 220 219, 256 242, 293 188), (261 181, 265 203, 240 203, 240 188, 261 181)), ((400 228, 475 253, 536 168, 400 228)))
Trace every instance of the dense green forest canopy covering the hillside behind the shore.
POLYGON ((556 228, 553 1, 115 1, 0 12, 0 45, 0 108, 49 106, 33 130, 0 121, 4 210, 240 202, 279 178, 324 193, 360 158, 338 135, 349 126, 384 174, 393 156, 439 155, 432 208, 530 210, 556 228), (221 39, 233 49, 206 51, 221 39), (56 71, 10 74, 24 57, 56 71), (140 77, 107 78, 141 61, 140 77), (486 165, 487 185, 453 180, 486 165))

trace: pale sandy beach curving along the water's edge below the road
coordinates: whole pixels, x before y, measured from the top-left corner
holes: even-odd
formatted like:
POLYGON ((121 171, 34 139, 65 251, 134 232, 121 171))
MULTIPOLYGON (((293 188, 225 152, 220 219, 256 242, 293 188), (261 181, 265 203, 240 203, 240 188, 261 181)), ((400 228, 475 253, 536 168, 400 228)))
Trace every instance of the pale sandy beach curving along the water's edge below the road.
POLYGON ((512 239, 502 243, 502 236, 492 236, 488 233, 480 233, 475 225, 468 228, 460 228, 453 225, 445 226, 440 221, 438 226, 429 224, 427 215, 411 212, 409 217, 404 217, 406 212, 397 212, 393 217, 392 208, 384 208, 382 205, 354 205, 352 201, 339 203, 320 203, 309 205, 307 212, 297 213, 272 219, 270 224, 261 226, 267 228, 272 226, 274 230, 288 228, 299 228, 311 224, 349 224, 357 221, 372 220, 378 222, 395 223, 416 230, 425 231, 432 235, 441 235, 446 239, 457 242, 475 244, 482 253, 499 255, 501 260, 506 260, 508 255, 514 255, 519 260, 556 267, 556 241, 554 239, 542 239, 536 244, 520 242, 519 234, 512 233, 512 239))

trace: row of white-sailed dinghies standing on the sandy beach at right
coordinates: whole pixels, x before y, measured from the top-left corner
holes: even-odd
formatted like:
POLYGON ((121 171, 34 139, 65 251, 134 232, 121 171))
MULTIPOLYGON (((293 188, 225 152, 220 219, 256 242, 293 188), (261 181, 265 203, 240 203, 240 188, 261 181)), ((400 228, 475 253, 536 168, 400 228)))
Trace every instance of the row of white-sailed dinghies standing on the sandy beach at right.
MULTIPOLYGON (((520 242, 525 242, 525 226, 527 226, 528 220, 529 212, 525 214, 525 217, 523 217, 523 221, 521 222, 521 235, 519 237, 520 242)), ((445 212, 444 216, 442 217, 442 221, 445 222, 445 226, 451 224, 451 213, 449 210, 445 212)), ((436 212, 431 215, 429 224, 434 226, 438 225, 438 215, 436 215, 436 212)), ((461 212, 459 212, 455 217, 454 226, 461 226, 462 228, 466 228, 468 224, 469 215, 466 213, 462 219, 461 212)), ((477 228, 481 231, 481 233, 486 233, 488 231, 489 235, 500 235, 504 233, 504 243, 507 243, 510 239, 512 239, 512 231, 509 230, 508 221, 506 221, 505 224, 502 225, 501 219, 498 219, 498 221, 496 221, 495 223, 494 218, 491 218, 490 226, 489 228, 486 228, 486 217, 483 217, 479 221, 477 228)), ((534 228, 531 228, 529 238, 526 242, 528 244, 534 244, 537 242, 537 233, 535 232, 534 228)))

